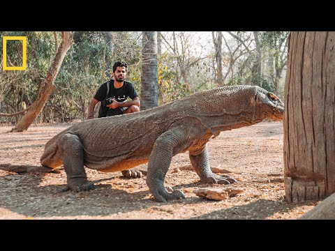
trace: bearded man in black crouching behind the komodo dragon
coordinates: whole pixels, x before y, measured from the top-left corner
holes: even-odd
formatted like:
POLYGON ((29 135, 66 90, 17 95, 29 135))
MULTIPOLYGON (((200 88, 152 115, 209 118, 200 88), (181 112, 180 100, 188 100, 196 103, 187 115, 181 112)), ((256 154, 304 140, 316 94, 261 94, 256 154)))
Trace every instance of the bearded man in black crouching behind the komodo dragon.
POLYGON ((98 118, 114 116, 140 111, 140 98, 133 87, 133 84, 125 81, 127 77, 127 64, 117 61, 113 66, 113 79, 103 83, 89 105, 88 119, 94 119, 94 107, 101 102, 98 118), (108 85, 108 86, 107 86, 108 85), (108 93, 107 93, 108 91, 108 93), (132 100, 126 101, 127 98, 132 100), (111 98, 111 103, 106 105, 106 99, 111 98))

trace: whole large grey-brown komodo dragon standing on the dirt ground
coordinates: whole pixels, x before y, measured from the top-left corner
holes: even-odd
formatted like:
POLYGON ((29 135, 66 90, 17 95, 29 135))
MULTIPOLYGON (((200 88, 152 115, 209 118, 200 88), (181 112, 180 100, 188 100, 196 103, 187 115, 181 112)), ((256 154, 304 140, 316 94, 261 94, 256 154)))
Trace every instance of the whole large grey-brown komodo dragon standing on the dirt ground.
POLYGON ((133 114, 77 123, 45 144, 43 166, 64 164, 68 189, 94 189, 84 166, 117 172, 148 162, 147 185, 158 201, 185 198, 164 187, 172 156, 189 152, 204 183, 237 182, 211 172, 207 142, 224 130, 251 126, 263 119, 283 119, 283 102, 259 86, 229 86, 195 93, 133 114))

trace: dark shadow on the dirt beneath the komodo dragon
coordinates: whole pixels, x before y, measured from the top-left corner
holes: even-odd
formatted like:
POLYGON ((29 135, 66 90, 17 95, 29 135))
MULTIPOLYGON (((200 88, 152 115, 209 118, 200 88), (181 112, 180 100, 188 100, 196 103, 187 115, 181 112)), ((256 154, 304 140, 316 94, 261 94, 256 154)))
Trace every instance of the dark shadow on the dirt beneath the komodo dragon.
MULTIPOLYGON (((25 217, 76 217, 111 216, 118 213, 140 211, 151 206, 169 204, 197 204, 200 198, 188 200, 171 200, 166 203, 155 201, 148 188, 137 192, 113 188, 115 177, 91 179, 95 189, 89 192, 66 191, 62 185, 43 185, 47 174, 25 173, 10 174, 0 177, 0 207, 25 217)), ((123 177, 119 178, 122 181, 123 177)), ((126 178, 124 178, 126 180, 126 178)), ((135 180, 133 180, 135 181, 135 180)), ((192 186, 188 184, 186 186, 192 186)), ((179 186, 178 188, 185 187, 179 186)), ((0 215, 1 216, 1 215, 0 215)))

